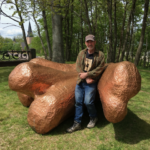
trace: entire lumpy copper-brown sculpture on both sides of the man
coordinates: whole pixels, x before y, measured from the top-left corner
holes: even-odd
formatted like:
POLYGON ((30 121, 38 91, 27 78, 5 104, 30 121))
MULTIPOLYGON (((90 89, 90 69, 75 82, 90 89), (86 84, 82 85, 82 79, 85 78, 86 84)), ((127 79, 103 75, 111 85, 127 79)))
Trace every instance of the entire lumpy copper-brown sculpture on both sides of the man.
MULTIPOLYGON (((10 89, 18 93, 24 106, 30 106, 29 125, 45 134, 74 113, 76 64, 60 64, 35 58, 15 67, 9 75, 10 89)), ((141 76, 133 63, 107 65, 98 83, 106 119, 124 119, 128 100, 141 88, 141 76)))

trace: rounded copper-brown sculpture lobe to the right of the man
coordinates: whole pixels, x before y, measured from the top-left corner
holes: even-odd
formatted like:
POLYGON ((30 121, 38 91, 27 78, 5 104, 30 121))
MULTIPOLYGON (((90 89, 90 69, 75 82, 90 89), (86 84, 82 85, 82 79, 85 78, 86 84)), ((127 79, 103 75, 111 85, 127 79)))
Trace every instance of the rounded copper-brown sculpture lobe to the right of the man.
POLYGON ((129 99, 140 89, 141 76, 133 63, 124 61, 109 64, 98 83, 106 119, 112 123, 123 120, 129 99))

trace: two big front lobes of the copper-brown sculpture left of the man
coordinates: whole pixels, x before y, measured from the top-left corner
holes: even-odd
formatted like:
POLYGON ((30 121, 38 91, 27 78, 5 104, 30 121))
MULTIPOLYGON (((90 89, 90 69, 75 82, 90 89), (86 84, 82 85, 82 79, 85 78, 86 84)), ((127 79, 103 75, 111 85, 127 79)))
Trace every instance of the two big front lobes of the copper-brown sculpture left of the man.
POLYGON ((12 90, 34 98, 28 123, 40 134, 47 133, 73 113, 76 81, 77 72, 66 73, 32 62, 18 65, 9 75, 12 90))

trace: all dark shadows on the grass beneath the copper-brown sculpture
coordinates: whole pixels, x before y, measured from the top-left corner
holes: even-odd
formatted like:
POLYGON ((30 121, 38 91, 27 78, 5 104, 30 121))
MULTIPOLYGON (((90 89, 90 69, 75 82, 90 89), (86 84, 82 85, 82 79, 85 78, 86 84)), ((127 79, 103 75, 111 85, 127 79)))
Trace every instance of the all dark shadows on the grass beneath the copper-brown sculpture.
MULTIPOLYGON (((98 118, 99 121, 96 124, 96 127, 102 129, 107 126, 108 122, 103 114, 102 106, 100 101, 96 101, 96 107, 98 108, 98 118)), ((59 135, 66 134, 66 129, 73 124, 74 117, 62 122, 59 126, 54 128, 52 131, 45 134, 49 135, 59 135)), ((83 120, 82 120, 82 129, 86 128, 87 123, 89 122, 88 113, 85 109, 83 120)), ((150 139, 150 124, 140 119, 135 115, 131 110, 128 109, 128 114, 125 119, 119 123, 113 124, 115 130, 115 139, 117 141, 127 143, 127 144, 137 144, 142 140, 150 139)))

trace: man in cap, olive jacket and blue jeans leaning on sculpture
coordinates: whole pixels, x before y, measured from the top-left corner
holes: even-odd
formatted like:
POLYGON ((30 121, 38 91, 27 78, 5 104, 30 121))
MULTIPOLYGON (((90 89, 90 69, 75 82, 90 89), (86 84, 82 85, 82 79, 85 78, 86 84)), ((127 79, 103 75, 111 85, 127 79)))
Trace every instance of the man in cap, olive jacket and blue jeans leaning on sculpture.
POLYGON ((84 104, 90 117, 87 128, 93 128, 98 121, 94 100, 97 82, 104 69, 105 58, 101 51, 96 51, 95 44, 95 36, 87 35, 85 37, 87 48, 80 51, 77 57, 76 70, 79 76, 75 88, 75 117, 73 126, 66 130, 69 133, 81 129, 84 104))

